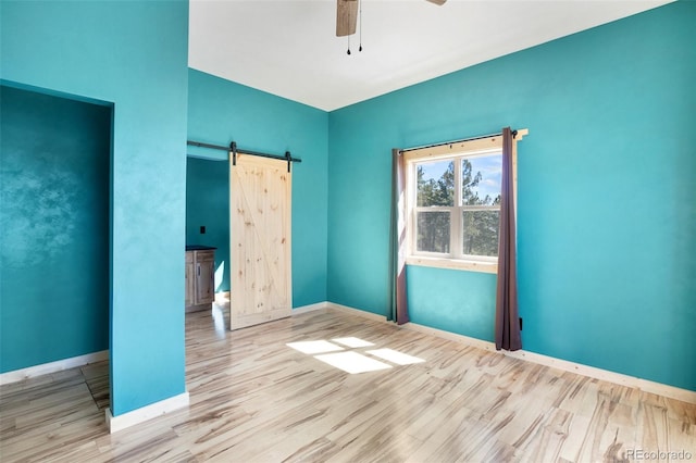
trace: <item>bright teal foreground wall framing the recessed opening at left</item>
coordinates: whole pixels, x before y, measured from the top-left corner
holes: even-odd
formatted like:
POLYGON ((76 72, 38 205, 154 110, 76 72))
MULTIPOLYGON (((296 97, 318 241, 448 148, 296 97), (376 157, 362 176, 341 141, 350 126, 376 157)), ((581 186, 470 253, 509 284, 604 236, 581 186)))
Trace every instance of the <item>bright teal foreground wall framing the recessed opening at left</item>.
MULTIPOLYGON (((4 82, 114 108, 102 263, 112 413, 183 393, 188 2, 3 0, 0 9, 4 82)), ((44 355, 24 366, 55 360, 44 355)))

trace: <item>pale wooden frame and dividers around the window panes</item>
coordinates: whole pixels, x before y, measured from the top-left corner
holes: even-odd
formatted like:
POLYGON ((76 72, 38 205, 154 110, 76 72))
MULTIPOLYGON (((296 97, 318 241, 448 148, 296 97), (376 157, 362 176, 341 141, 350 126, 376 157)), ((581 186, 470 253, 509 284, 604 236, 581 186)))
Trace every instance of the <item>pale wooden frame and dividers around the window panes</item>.
MULTIPOLYGON (((512 178, 514 196, 517 197, 517 143, 512 146, 512 178)), ((467 210, 499 210, 499 207, 463 207, 461 205, 461 160, 464 158, 474 158, 481 155, 489 155, 502 153, 502 136, 493 136, 467 140, 451 145, 442 145, 431 148, 422 148, 407 150, 403 153, 406 162, 406 197, 407 197, 407 249, 408 255, 406 263, 408 265, 422 265, 439 268, 455 268, 473 272, 497 273, 498 258, 485 255, 467 255, 462 254, 459 249, 461 246, 461 217, 458 215, 467 210), (455 191, 458 192, 455 198, 455 207, 418 207, 417 204, 417 164, 433 161, 455 161, 455 191), (419 211, 450 211, 450 254, 443 255, 436 252, 417 251, 417 212, 419 211), (456 234, 456 235, 455 235, 456 234)), ((517 212, 517 201, 515 201, 517 212)))

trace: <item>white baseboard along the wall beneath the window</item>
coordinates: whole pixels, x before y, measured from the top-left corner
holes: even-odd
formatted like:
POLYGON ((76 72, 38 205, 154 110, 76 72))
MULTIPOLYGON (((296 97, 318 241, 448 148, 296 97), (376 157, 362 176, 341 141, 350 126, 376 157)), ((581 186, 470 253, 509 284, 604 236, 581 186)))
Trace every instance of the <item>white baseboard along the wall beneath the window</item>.
MULTIPOLYGON (((353 315, 364 316, 375 321, 386 322, 383 315, 376 315, 371 312, 365 312, 360 309, 353 309, 346 305, 335 304, 327 302, 328 309, 335 309, 341 312, 351 313, 353 315)), ((389 322, 390 323, 390 322, 389 322)), ((648 379, 637 378, 634 376, 624 375, 621 373, 611 372, 608 370, 597 368, 589 365, 583 365, 582 363, 570 362, 568 360, 556 359, 554 356, 544 355, 535 352, 527 352, 524 350, 518 350, 509 352, 506 350, 496 351, 496 345, 490 341, 484 341, 482 339, 471 338, 469 336, 458 335, 456 333, 445 331, 443 329, 431 328, 428 326, 418 325, 415 323, 407 323, 400 326, 403 329, 411 329, 414 331, 425 333, 428 335, 437 336, 439 338, 462 342, 468 346, 472 346, 478 349, 484 349, 492 352, 499 352, 502 355, 511 356, 513 359, 525 360, 527 362, 537 363, 544 366, 551 366, 554 368, 562 370, 564 372, 576 373, 579 375, 588 376, 595 379, 601 379, 609 383, 619 384, 622 386, 633 387, 646 392, 656 393, 658 396, 669 397, 670 399, 681 400, 683 402, 696 404, 696 391, 682 389, 661 383, 651 381, 648 379)))

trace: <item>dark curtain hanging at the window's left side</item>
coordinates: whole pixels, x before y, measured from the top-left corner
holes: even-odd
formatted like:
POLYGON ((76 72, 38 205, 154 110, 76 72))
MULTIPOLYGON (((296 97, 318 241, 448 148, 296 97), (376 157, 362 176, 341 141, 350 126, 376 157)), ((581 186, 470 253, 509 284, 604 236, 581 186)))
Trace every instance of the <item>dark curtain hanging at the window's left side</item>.
POLYGON ((398 149, 391 150, 391 236, 390 275, 391 312, 398 325, 409 322, 406 297, 406 162, 398 149))

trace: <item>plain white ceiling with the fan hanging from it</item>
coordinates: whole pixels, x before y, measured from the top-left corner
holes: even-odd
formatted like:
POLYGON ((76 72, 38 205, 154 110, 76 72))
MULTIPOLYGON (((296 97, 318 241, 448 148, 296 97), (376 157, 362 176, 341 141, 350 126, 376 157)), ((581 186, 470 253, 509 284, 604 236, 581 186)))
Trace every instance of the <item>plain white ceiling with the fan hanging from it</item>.
POLYGON ((190 0, 188 60, 332 111, 670 1, 362 0, 348 55, 335 0, 190 0))

